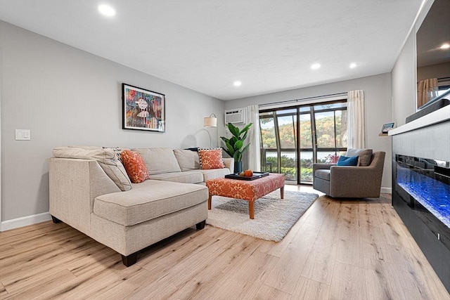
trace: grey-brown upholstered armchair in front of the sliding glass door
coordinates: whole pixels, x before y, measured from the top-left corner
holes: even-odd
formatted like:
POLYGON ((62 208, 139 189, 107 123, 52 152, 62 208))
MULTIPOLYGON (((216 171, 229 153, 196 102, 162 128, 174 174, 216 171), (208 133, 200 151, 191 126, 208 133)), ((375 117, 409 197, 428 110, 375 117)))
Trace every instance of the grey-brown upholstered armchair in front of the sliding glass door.
POLYGON ((330 197, 380 197, 386 152, 373 152, 367 167, 313 164, 313 188, 330 197))

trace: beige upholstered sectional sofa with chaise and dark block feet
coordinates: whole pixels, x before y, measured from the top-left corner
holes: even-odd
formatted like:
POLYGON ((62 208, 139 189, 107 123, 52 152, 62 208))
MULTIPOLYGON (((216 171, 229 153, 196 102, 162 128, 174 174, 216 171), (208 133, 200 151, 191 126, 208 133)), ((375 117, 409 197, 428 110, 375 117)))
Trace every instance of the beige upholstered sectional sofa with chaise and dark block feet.
POLYGON ((131 149, 150 179, 131 183, 116 148, 55 148, 49 159, 50 214, 122 254, 125 266, 139 250, 181 230, 202 229, 207 219, 205 182, 233 172, 202 170, 198 152, 170 148, 131 149))

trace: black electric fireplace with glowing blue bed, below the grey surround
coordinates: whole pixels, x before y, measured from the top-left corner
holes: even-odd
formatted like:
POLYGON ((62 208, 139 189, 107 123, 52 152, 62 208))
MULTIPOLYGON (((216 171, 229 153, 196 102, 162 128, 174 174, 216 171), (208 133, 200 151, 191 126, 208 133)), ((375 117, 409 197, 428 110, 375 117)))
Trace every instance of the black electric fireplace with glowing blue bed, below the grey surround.
POLYGON ((392 205, 450 290, 450 162, 395 155, 392 205))

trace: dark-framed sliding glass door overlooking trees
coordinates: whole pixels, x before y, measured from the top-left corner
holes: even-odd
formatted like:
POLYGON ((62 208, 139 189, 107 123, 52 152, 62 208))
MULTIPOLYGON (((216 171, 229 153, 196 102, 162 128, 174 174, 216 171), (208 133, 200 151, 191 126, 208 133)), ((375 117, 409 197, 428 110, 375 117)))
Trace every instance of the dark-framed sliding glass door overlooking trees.
POLYGON ((260 110, 259 122, 262 170, 288 183, 312 183, 314 162, 335 162, 347 150, 346 100, 260 110))

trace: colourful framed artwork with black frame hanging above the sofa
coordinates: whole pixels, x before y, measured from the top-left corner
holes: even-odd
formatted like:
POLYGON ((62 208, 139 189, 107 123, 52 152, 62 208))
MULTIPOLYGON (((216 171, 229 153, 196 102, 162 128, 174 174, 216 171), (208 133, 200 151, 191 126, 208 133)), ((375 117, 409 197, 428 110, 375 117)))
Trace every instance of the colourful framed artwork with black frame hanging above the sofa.
POLYGON ((122 129, 165 132, 165 95, 122 84, 122 129))

